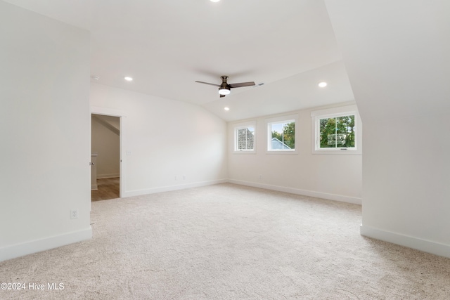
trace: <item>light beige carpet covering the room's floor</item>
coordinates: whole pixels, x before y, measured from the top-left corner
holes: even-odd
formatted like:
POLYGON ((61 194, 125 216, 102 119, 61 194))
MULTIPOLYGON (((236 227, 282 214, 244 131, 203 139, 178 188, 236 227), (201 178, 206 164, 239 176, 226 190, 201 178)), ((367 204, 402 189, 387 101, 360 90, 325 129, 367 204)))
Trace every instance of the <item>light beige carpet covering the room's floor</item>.
POLYGON ((92 240, 0 263, 0 299, 450 299, 450 259, 359 235, 361 207, 221 184, 92 203, 92 240))

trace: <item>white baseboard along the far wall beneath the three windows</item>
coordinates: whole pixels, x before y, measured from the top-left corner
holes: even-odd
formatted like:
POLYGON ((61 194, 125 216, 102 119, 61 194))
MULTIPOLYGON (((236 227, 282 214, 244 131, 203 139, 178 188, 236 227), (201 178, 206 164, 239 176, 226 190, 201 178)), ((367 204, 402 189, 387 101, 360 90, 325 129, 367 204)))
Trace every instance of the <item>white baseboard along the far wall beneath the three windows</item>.
POLYGON ((279 192, 284 192, 284 193, 290 193, 290 194, 295 194, 295 195, 304 195, 304 196, 309 196, 309 197, 318 197, 318 198, 322 198, 322 199, 334 200, 334 201, 339 201, 339 202, 347 202, 347 203, 359 204, 359 205, 361 205, 361 203, 362 203, 361 198, 357 198, 357 197, 349 197, 349 196, 344 196, 344 195, 335 195, 335 194, 314 192, 312 190, 300 190, 298 188, 286 188, 284 186, 279 186, 279 185, 254 183, 254 182, 250 182, 250 181, 238 181, 235 179, 229 179, 228 182, 239 184, 239 185, 248 185, 248 186, 252 186, 254 188, 265 188, 266 190, 278 190, 279 192))

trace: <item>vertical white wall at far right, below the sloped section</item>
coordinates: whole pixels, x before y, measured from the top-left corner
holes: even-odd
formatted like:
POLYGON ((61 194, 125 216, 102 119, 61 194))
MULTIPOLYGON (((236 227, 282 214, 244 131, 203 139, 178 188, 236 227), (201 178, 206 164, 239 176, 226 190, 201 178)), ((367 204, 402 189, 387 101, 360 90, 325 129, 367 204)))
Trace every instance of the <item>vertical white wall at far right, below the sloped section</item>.
POLYGON ((364 127, 364 167, 371 169, 364 171, 363 233, 373 228, 450 246, 449 113, 364 127))

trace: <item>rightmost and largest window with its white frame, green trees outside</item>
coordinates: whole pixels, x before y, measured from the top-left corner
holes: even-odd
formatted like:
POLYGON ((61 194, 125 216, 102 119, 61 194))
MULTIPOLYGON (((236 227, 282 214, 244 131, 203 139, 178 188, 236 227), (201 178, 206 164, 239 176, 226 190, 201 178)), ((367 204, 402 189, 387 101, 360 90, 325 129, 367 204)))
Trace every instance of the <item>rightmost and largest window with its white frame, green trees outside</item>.
POLYGON ((314 153, 361 153, 361 122, 356 105, 311 112, 314 122, 314 153))

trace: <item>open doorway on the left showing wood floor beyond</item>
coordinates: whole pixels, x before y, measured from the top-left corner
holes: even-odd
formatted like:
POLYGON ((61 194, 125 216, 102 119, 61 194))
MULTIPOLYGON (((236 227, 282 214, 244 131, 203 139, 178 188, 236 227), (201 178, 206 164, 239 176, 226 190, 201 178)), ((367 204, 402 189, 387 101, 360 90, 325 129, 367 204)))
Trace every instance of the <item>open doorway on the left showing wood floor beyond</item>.
POLYGON ((91 202, 121 196, 120 117, 91 114, 91 202))

